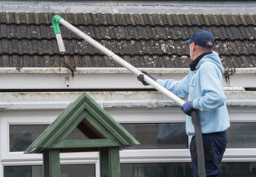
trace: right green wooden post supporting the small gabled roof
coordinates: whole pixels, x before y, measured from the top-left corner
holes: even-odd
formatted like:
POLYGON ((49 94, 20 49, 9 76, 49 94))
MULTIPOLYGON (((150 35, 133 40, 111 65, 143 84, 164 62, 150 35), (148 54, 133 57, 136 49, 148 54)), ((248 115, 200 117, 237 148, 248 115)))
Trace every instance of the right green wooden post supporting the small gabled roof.
POLYGON ((102 177, 120 177, 119 147, 101 147, 100 163, 102 177))

